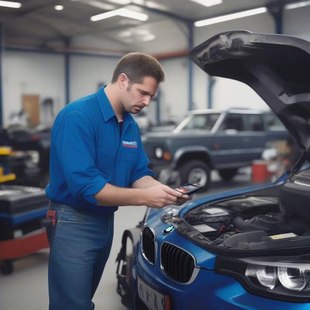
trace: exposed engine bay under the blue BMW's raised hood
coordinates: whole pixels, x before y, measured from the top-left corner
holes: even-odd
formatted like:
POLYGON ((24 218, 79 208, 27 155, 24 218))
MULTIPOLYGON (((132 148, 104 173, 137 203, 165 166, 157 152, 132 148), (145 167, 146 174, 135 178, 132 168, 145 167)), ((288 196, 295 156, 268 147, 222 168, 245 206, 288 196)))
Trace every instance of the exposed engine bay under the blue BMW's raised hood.
POLYGON ((215 253, 221 248, 277 255, 280 249, 281 253, 310 249, 309 206, 310 171, 304 170, 283 184, 210 201, 181 216, 172 208, 161 219, 215 253))

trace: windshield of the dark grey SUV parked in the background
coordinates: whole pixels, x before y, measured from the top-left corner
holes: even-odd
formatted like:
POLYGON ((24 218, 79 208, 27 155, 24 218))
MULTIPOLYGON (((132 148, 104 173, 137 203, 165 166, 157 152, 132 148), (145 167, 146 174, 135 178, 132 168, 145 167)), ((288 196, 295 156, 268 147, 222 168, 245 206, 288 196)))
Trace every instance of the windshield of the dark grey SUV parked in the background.
POLYGON ((185 120, 175 129, 175 131, 204 129, 212 130, 220 113, 193 114, 185 118, 185 120))

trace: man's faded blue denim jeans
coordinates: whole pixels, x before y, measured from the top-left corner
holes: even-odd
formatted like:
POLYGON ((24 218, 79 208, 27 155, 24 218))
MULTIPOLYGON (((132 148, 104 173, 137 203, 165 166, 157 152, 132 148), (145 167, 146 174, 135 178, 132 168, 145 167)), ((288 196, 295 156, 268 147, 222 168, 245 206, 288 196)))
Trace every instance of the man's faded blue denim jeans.
MULTIPOLYGON (((102 207, 104 208, 104 207, 102 207)), ((113 240, 114 213, 95 214, 52 202, 54 229, 48 228, 49 310, 93 310, 113 240)))

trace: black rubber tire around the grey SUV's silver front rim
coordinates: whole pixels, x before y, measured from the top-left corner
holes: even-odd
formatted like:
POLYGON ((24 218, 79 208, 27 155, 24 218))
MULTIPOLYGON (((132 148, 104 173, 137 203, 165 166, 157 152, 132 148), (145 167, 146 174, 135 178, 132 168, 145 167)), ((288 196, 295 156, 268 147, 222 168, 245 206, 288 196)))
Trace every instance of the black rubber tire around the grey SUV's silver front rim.
POLYGON ((197 183, 199 185, 203 185, 203 188, 199 191, 199 193, 204 193, 209 189, 210 182, 211 182, 211 171, 210 171, 209 166, 205 162, 202 162, 200 160, 191 160, 189 162, 185 162, 182 166, 179 167, 178 170, 180 173, 180 181, 181 181, 180 185, 186 184, 186 183, 197 183), (195 168, 205 171, 206 178, 207 178, 205 184, 200 184, 199 180, 197 180, 196 182, 193 182, 193 180, 189 179, 191 172, 195 168))

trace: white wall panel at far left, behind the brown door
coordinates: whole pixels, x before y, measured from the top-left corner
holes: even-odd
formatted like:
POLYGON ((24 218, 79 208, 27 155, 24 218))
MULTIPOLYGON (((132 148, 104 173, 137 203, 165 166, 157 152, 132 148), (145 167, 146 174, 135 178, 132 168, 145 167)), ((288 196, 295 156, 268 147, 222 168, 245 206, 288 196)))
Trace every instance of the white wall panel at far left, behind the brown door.
MULTIPOLYGON (((3 124, 12 112, 21 110, 22 95, 54 99, 55 113, 64 106, 64 56, 5 51, 2 58, 3 124)), ((44 112, 41 109, 41 120, 44 112)))

